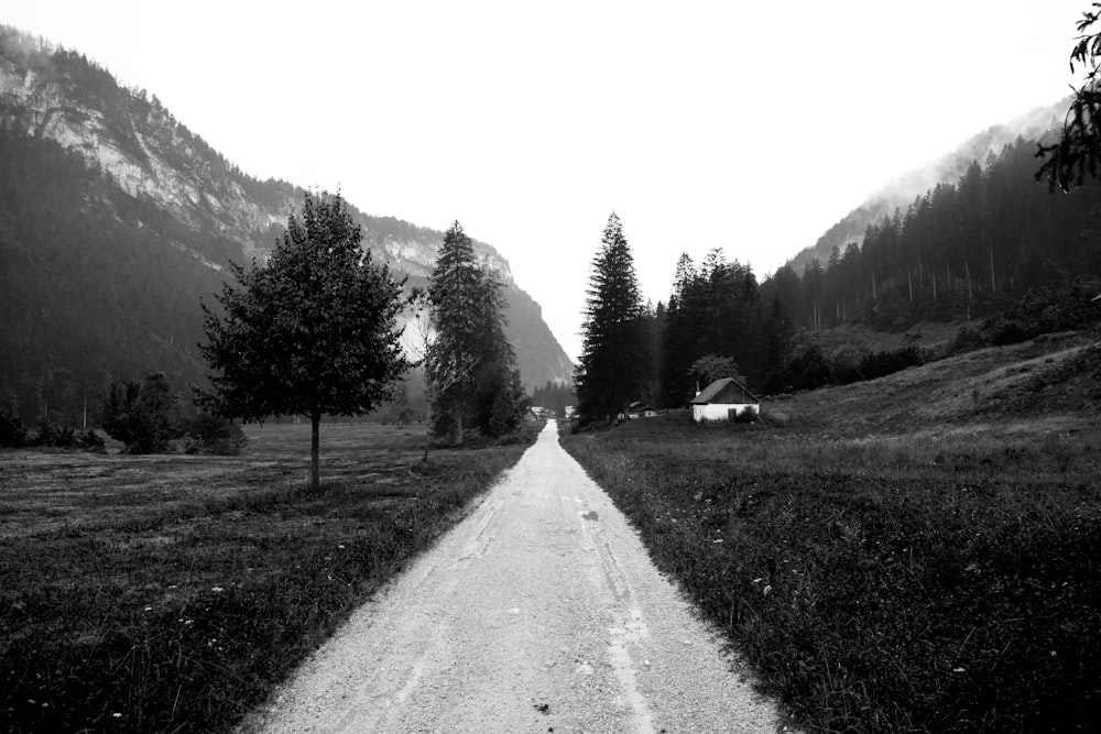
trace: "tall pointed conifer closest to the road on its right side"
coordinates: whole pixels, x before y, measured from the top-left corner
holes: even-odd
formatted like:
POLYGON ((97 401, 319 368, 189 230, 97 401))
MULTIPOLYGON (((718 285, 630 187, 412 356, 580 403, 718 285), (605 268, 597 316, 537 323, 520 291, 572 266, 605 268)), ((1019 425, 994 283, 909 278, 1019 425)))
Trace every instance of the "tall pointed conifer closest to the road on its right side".
POLYGON ((613 212, 592 261, 581 327, 580 364, 574 376, 585 421, 611 418, 637 399, 645 377, 646 333, 634 260, 613 212))

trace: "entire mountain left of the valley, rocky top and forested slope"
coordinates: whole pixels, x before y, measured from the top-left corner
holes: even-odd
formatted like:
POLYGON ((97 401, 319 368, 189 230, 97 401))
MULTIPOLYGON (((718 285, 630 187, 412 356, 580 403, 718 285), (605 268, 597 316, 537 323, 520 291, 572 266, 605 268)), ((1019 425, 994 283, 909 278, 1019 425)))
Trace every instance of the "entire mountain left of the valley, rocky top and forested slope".
MULTIPOLYGON (((203 382, 200 298, 229 262, 268 255, 303 189, 258 180, 85 56, 0 26, 0 387, 24 417, 72 414, 111 380, 151 370, 203 382)), ((443 233, 350 206, 364 247, 424 285, 443 233)), ((509 300, 526 387, 573 364, 515 283, 476 242, 509 300)))

